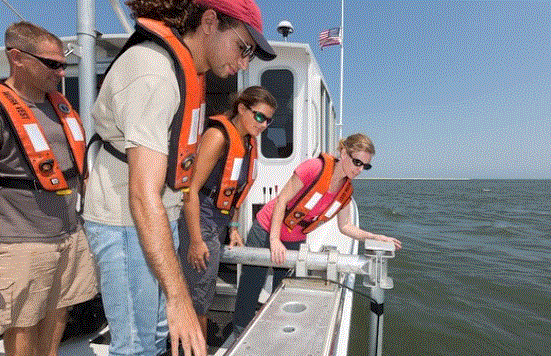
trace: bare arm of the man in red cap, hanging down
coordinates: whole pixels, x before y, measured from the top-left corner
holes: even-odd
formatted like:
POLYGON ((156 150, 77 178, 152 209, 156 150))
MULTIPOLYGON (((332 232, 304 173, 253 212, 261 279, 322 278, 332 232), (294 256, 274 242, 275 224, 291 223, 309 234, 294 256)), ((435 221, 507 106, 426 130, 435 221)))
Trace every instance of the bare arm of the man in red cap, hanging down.
POLYGON ((129 203, 140 244, 166 299, 172 355, 182 342, 186 356, 206 356, 206 343, 174 249, 172 231, 162 202, 167 156, 138 146, 126 150, 129 203))

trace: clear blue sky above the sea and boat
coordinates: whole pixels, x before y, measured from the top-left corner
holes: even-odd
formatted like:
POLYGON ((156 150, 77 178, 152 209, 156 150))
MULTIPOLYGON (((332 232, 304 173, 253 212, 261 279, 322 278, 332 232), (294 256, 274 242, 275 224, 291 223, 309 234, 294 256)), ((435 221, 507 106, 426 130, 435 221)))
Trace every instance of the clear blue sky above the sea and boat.
MULTIPOLYGON (((2 32, 18 21, 5 1, 76 34, 76 0, 2 0, 2 32)), ((268 40, 288 20, 289 41, 310 45, 339 112, 340 47, 317 36, 340 26, 341 2, 257 3, 268 40)), ((95 4, 97 30, 122 32, 109 1, 95 4)), ((551 2, 345 0, 343 35, 343 136, 377 150, 361 177, 551 179, 551 2)))

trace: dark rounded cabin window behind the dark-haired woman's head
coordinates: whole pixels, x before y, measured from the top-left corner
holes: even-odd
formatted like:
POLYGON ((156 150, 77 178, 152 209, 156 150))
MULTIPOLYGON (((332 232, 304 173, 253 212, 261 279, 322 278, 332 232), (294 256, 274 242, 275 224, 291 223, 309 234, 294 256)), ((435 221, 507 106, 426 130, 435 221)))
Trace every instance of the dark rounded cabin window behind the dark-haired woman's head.
POLYGON ((260 85, 277 100, 274 121, 260 139, 260 151, 266 158, 287 158, 293 154, 294 78, 288 69, 270 69, 262 73, 260 85))

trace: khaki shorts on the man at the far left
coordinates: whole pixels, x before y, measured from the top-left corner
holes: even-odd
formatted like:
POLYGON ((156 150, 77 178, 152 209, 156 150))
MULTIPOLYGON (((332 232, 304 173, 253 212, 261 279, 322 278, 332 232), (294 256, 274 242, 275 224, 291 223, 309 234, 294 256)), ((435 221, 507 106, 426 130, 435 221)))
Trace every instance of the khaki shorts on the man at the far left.
POLYGON ((58 242, 0 243, 0 334, 92 299, 96 268, 81 229, 58 242))

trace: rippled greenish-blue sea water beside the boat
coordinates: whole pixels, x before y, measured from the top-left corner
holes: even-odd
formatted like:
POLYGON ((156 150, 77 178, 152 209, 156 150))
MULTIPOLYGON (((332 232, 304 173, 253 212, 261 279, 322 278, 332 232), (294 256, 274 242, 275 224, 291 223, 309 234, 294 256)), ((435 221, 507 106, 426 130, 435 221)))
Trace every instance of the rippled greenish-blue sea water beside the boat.
MULTIPOLYGON (((360 224, 393 236, 384 355, 551 355, 551 180, 357 180, 360 224)), ((355 299, 350 355, 366 355, 355 299)))

